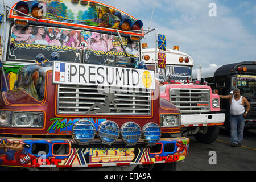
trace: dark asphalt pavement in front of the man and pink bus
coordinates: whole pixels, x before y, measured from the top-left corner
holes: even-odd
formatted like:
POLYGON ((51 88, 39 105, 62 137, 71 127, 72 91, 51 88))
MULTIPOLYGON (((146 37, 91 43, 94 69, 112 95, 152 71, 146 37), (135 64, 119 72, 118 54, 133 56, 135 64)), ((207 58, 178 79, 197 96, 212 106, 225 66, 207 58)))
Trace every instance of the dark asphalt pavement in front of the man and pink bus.
POLYGON ((245 132, 241 147, 230 147, 229 133, 220 130, 211 144, 199 143, 193 137, 188 156, 177 163, 178 171, 255 171, 256 129, 245 132), (213 156, 216 154, 216 161, 213 156), (210 163, 209 164, 209 160, 210 163), (215 162, 215 163, 213 163, 215 162))

